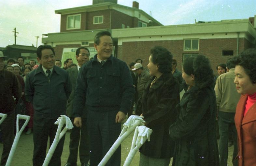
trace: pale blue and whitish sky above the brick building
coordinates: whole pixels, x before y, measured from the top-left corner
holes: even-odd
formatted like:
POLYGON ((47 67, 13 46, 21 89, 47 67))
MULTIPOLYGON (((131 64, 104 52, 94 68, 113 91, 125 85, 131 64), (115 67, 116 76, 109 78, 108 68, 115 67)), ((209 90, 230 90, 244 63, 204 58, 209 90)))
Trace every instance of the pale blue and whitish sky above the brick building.
MULTIPOLYGON (((132 7, 134 0, 118 0, 132 7)), ((136 0, 139 8, 152 13, 163 25, 196 21, 245 19, 256 15, 256 0, 136 0), (161 3, 160 3, 161 2, 161 3)), ((60 32, 60 14, 55 10, 92 5, 92 0, 0 0, 0 47, 14 44, 38 46, 42 34, 60 32)))

